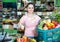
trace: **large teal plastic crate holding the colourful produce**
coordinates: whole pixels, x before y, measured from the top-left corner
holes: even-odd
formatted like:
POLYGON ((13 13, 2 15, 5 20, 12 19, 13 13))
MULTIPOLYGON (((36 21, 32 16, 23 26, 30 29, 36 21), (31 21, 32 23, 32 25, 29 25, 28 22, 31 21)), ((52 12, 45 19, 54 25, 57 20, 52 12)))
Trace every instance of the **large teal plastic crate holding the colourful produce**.
POLYGON ((54 28, 51 30, 37 29, 37 32, 39 42, 60 42, 60 28, 54 28))

